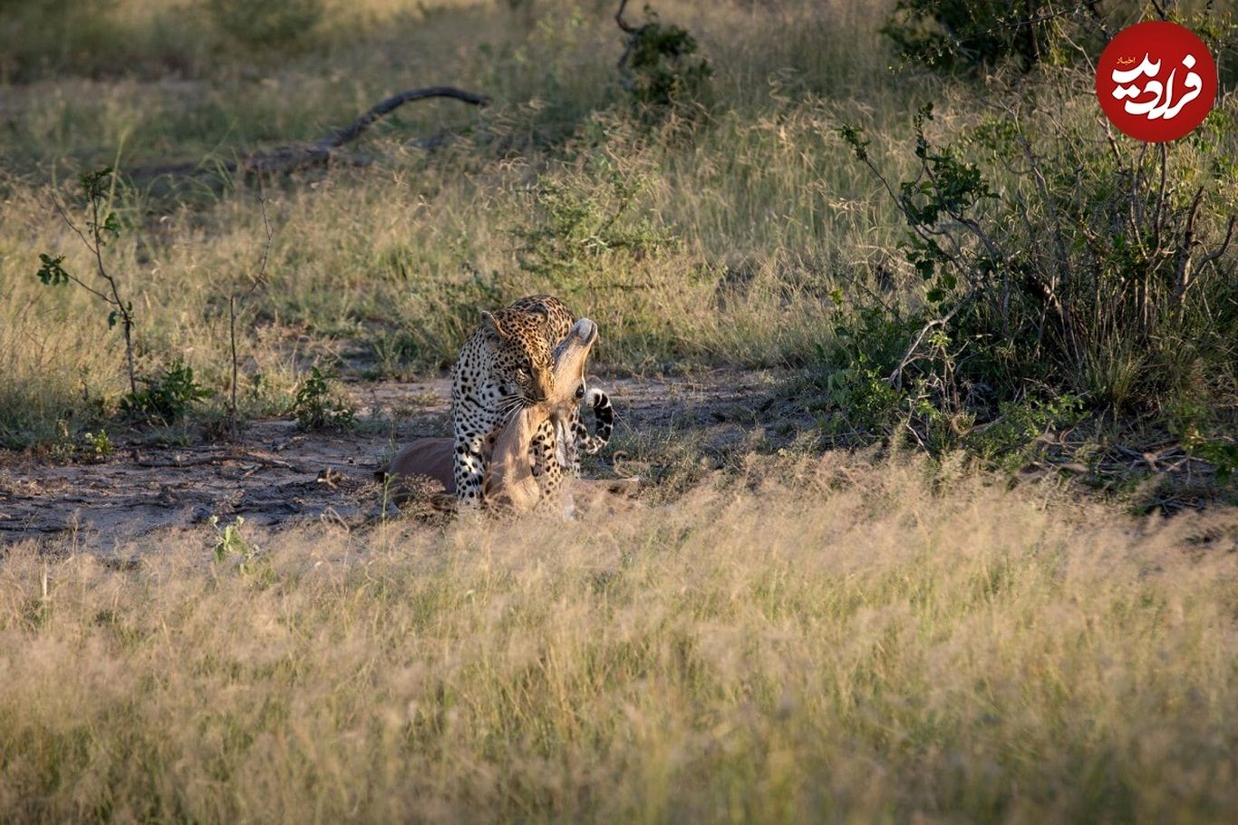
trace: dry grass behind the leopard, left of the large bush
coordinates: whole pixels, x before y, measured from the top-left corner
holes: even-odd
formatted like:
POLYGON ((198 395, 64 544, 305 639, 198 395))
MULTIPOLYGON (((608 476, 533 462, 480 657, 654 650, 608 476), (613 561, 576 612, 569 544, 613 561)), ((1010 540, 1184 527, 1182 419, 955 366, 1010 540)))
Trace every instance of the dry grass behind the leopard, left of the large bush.
MULTIPOLYGON (((623 41, 609 4, 505 5, 430 4, 401 15, 390 2, 335 4, 302 51, 198 43, 176 77, 158 61, 158 21, 171 12, 134 0, 100 12, 130 36, 98 47, 118 50, 121 63, 125 50, 137 50, 132 74, 45 72, 2 87, 12 146, 0 160, 0 196, 12 219, 0 227, 0 443, 47 442, 58 420, 74 431, 90 425, 125 388, 106 312, 80 290, 48 290, 33 276, 40 251, 66 254, 72 271, 89 273, 87 250, 51 208, 53 187, 72 198, 78 171, 118 157, 123 170, 170 161, 209 168, 317 138, 399 88, 427 83, 478 89, 495 104, 406 107, 357 145, 373 166, 265 192, 275 229, 270 289, 241 323, 243 372, 246 382, 261 378, 261 393, 246 396, 250 414, 286 409, 314 359, 348 357, 381 377, 439 369, 479 308, 527 291, 562 294, 594 317, 604 331, 598 357, 610 367, 815 357, 831 334, 825 296, 841 284, 836 273, 869 279, 884 256, 878 248, 898 233, 832 136, 841 113, 872 124, 864 111, 879 107, 879 118, 906 120, 906 93, 883 76, 868 5, 725 4, 706 14, 659 4, 665 20, 701 37, 714 66, 717 128, 686 140, 673 123, 650 134, 613 108, 623 41), (212 48, 222 51, 198 56, 212 48), (818 94, 846 100, 826 104, 818 94), (444 129, 463 136, 435 155, 404 145, 444 129), (598 135, 597 151, 584 152, 598 135), (529 187, 550 180, 584 199, 605 188, 583 161, 565 161, 573 152, 595 154, 639 183, 628 214, 673 244, 639 260, 603 255, 571 284, 522 273, 516 233, 540 219, 529 187)), ((194 19, 203 7, 176 14, 194 19)), ((202 27, 206 41, 210 31, 202 27)), ((219 389, 229 374, 227 294, 256 270, 262 218, 251 188, 199 188, 123 192, 114 206, 125 232, 108 258, 135 302, 139 372, 183 358, 219 389)), ((588 208, 608 214, 613 206, 599 198, 588 208)))

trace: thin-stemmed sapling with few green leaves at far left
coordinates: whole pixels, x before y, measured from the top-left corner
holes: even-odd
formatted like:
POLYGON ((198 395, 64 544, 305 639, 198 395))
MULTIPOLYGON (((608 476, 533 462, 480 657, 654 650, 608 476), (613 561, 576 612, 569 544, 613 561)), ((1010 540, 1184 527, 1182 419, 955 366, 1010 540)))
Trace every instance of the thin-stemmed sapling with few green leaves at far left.
POLYGON ((129 368, 129 391, 137 393, 137 375, 134 369, 134 302, 125 300, 120 295, 120 285, 108 271, 104 264, 103 250, 108 243, 120 237, 120 219, 111 208, 116 188, 116 175, 113 167, 108 166, 97 172, 88 172, 78 176, 78 185, 82 187, 87 199, 85 230, 69 217, 68 208, 53 196, 52 203, 61 218, 73 233, 82 239, 85 248, 94 258, 95 275, 102 281, 102 287, 95 289, 85 280, 64 269, 64 255, 51 255, 41 253, 41 263, 36 275, 45 286, 64 286, 77 284, 87 292, 90 292, 105 305, 111 307, 108 312, 108 328, 120 325, 120 331, 125 336, 125 359, 129 368))

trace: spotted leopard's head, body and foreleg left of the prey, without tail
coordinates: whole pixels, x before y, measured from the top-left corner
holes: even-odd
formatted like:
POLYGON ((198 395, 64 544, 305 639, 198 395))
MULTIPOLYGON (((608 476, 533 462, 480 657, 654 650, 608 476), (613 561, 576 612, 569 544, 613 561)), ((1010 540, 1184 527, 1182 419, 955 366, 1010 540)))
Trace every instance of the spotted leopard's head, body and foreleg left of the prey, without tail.
MULTIPOLYGON (((503 310, 482 312, 478 328, 464 342, 452 370, 453 481, 458 504, 482 505, 487 440, 493 440, 520 409, 551 396, 552 349, 567 337, 574 322, 567 305, 551 295, 530 295, 503 310)), ((553 472, 547 478, 552 476, 553 472)))

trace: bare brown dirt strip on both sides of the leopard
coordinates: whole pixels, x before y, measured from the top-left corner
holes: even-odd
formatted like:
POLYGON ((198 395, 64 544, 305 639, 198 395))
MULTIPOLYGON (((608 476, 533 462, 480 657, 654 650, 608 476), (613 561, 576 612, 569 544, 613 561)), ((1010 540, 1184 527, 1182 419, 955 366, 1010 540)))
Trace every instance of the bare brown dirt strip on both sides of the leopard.
MULTIPOLYGON (((613 446, 638 434, 692 434, 704 450, 718 451, 790 440, 795 427, 787 426, 786 410, 774 409, 771 390, 780 380, 771 372, 717 370, 594 383, 615 405, 613 446), (766 422, 779 426, 770 430, 766 422)), ((374 471, 392 448, 449 434, 449 383, 446 377, 358 382, 348 390, 361 411, 360 425, 347 434, 264 420, 250 422, 236 443, 191 436, 184 446, 166 446, 142 434, 115 437, 115 452, 98 463, 0 452, 0 544, 61 538, 108 551, 156 530, 209 529, 212 515, 220 522, 243 515, 275 529, 307 520, 360 524, 381 510, 374 471)), ((603 456, 591 474, 613 477, 610 451, 603 456)))

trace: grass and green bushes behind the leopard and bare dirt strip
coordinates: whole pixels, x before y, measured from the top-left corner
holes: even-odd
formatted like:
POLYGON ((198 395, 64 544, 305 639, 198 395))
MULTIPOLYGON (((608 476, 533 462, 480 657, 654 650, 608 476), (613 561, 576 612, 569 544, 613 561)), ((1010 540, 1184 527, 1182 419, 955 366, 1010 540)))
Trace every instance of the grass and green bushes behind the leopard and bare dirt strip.
MULTIPOLYGON (((90 271, 72 181, 113 166, 105 259, 137 372, 192 368, 222 390, 208 419, 233 398, 239 291, 254 415, 288 410, 317 362, 443 369, 480 307, 547 290, 599 321, 610 369, 803 368, 794 391, 836 442, 1009 452, 983 427, 1047 416, 1233 467, 1233 85, 1167 147, 1108 128, 1092 93, 1093 53, 1156 6, 1021 25, 1008 4, 672 1, 621 31, 614 5, 15 6, 0 442, 124 406, 90 295, 31 277, 33 253, 90 271), (329 171, 234 171, 432 84, 493 104, 410 104, 329 171)), ((1172 12, 1231 78, 1232 10, 1172 12)))

